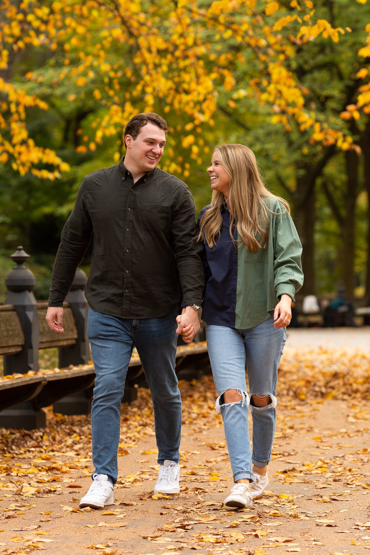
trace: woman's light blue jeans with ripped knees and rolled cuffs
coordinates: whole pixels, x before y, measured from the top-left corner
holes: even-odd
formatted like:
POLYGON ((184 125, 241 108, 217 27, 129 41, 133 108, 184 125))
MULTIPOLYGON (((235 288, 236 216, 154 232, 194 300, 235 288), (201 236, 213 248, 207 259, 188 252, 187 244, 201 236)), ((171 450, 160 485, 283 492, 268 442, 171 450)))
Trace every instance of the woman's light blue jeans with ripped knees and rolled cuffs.
POLYGON ((234 482, 253 481, 252 464, 266 466, 271 458, 276 426, 277 369, 286 341, 283 327, 273 327, 273 317, 247 330, 206 324, 212 374, 219 397, 215 409, 224 421, 227 450, 234 482), (247 366, 249 395, 245 377, 247 366), (224 403, 223 393, 235 389, 242 400, 224 403), (250 396, 269 395, 265 407, 250 405, 250 396), (248 407, 253 422, 253 451, 248 431, 248 407))

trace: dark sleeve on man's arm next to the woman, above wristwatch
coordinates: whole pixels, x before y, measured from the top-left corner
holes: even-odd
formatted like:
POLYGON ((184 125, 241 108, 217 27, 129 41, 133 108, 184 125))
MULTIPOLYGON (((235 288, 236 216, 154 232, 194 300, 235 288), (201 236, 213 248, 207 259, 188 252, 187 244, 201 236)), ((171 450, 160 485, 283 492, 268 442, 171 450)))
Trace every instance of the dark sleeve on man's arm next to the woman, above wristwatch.
POLYGON ((204 273, 199 245, 196 243, 195 203, 186 185, 180 189, 171 216, 171 233, 183 291, 183 304, 201 305, 204 273))

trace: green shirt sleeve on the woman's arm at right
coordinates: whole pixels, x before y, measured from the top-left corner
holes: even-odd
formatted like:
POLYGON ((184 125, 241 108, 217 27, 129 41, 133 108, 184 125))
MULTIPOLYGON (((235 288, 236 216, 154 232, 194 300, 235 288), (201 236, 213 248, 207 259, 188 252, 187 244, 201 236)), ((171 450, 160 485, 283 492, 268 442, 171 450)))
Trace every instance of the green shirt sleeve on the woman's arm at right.
POLYGON ((303 285, 302 245, 288 211, 277 214, 275 218, 273 271, 276 296, 286 294, 294 302, 296 292, 303 285))

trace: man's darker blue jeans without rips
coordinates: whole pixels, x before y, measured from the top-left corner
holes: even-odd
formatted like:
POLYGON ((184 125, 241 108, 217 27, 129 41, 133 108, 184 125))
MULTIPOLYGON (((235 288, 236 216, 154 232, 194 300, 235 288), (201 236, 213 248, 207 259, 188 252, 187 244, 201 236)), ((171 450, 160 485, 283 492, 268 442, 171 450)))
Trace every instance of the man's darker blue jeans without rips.
POLYGON ((175 375, 176 316, 126 319, 89 309, 88 337, 95 366, 91 411, 93 465, 113 484, 118 476, 120 408, 133 344, 140 356, 154 405, 158 462, 178 462, 181 397, 175 375))

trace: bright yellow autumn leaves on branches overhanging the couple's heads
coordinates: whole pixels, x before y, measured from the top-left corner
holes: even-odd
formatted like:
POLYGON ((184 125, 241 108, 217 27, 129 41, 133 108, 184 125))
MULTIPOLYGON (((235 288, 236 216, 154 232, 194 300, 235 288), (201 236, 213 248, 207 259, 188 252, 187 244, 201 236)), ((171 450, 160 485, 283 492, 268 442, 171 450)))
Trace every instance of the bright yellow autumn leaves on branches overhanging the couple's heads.
MULTIPOLYGON (((169 117, 181 117, 179 131, 185 132, 191 123, 199 129, 200 137, 204 126, 213 125, 212 117, 221 97, 230 109, 236 107, 238 98, 256 98, 271 109, 273 122, 286 130, 291 129, 292 120, 302 131, 312 129, 312 142, 339 145, 341 138, 343 145, 348 143, 341 132, 326 128, 323 123, 319 124, 320 130, 315 128, 315 114, 305 106, 306 91, 286 65, 286 60, 294 55, 288 38, 291 33, 304 47, 319 36, 336 43, 343 33, 351 31, 334 28, 325 19, 315 19, 314 1, 291 0, 289 9, 275 0, 263 6, 255 0, 215 0, 207 8, 196 0, 179 0, 176 4, 160 0, 157 4, 148 10, 141 0, 104 4, 94 0, 55 0, 47 5, 33 0, 19 6, 3 0, 0 70, 8 69, 11 52, 42 47, 53 56, 58 49, 62 68, 53 87, 67 82, 72 89, 70 98, 75 95, 71 102, 89 97, 99 107, 99 116, 91 124, 90 150, 106 137, 122 140, 128 119, 158 106, 169 117), (287 26, 289 34, 284 37, 282 30, 287 26), (230 42, 232 48, 225 47, 220 52, 220 41, 230 42), (249 89, 240 93, 235 90, 235 62, 244 67, 251 56, 260 64, 259 75, 263 79, 251 79, 249 89), (273 113, 276 105, 278 114, 273 113)), ((369 37, 358 55, 370 56, 369 37)), ((361 70, 358 78, 365 78, 365 71, 361 70)), ((11 164, 21 175, 33 171, 55 179, 60 171, 66 171, 66 166, 61 165, 63 161, 55 152, 34 144, 27 129, 28 108, 48 109, 41 98, 42 75, 25 71, 24 78, 40 85, 40 97, 0 79, 4 103, 0 104, 0 160, 11 164), (35 169, 38 164, 54 169, 43 173, 35 169)), ((351 117, 361 117, 360 108, 365 111, 368 107, 367 92, 360 92, 351 117)), ((184 133, 183 148, 195 144, 199 145, 199 139, 184 133)), ((85 152, 84 149, 80 145, 78 152, 85 152)), ((193 149, 192 154, 199 153, 193 149)), ((183 171, 170 159, 165 164, 170 171, 183 171)))

